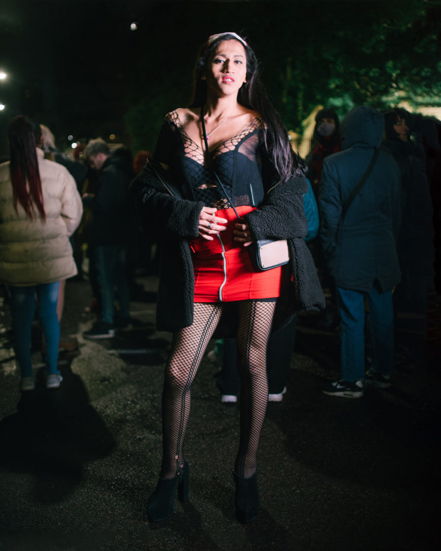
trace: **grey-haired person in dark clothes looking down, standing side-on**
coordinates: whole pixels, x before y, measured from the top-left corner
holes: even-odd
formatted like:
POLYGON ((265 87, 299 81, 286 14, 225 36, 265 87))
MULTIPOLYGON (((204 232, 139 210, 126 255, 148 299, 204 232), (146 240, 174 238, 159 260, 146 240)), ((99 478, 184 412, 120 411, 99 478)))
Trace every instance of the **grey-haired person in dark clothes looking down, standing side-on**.
POLYGON ((85 193, 83 204, 93 213, 90 241, 101 294, 101 318, 83 335, 89 339, 111 338, 115 334, 115 287, 120 306, 119 323, 126 326, 130 321, 126 245, 131 229, 128 186, 133 169, 125 155, 111 155, 101 138, 89 141, 84 156, 91 168, 99 171, 96 193, 85 193))

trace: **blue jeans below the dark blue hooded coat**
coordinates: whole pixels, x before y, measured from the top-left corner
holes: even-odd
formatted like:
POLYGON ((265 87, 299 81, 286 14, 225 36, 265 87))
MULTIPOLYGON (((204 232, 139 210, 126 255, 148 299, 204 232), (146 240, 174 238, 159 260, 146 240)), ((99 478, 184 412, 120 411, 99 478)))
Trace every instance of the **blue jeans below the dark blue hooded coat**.
POLYGON ((341 371, 345 381, 364 379, 364 301, 367 299, 367 319, 371 370, 390 374, 394 368, 394 309, 392 291, 380 291, 374 284, 365 293, 337 287, 337 304, 340 312, 341 371))

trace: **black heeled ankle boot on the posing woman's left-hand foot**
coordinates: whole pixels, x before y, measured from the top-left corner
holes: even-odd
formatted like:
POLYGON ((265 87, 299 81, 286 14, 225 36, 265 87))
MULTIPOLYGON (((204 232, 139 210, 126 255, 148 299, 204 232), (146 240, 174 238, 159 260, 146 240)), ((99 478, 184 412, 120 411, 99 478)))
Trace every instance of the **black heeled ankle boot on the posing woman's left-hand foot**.
POLYGON ((186 461, 184 470, 175 478, 159 478, 156 489, 148 500, 147 515, 150 522, 159 522, 173 515, 176 489, 179 501, 189 500, 189 464, 186 461))

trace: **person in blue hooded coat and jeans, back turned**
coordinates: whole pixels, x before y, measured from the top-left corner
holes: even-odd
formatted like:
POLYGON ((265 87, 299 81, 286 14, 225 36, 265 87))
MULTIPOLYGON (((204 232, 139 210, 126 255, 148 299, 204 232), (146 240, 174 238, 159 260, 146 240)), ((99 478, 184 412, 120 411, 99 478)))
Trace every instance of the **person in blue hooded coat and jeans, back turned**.
POLYGON ((322 392, 360 398, 365 382, 390 386, 394 362, 392 289, 400 281, 396 239, 401 223, 400 169, 390 155, 378 158, 342 218, 343 205, 361 181, 384 132, 384 118, 372 107, 356 107, 342 123, 342 151, 324 163, 319 208, 320 240, 335 279, 340 314, 342 379, 322 392), (372 365, 365 374, 364 302, 372 365))

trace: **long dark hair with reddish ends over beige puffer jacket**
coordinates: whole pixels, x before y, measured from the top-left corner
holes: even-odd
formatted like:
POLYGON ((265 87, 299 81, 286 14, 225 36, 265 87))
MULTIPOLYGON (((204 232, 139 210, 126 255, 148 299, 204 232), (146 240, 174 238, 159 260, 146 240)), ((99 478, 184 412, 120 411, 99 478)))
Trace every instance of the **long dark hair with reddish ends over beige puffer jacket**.
POLYGON ((14 208, 17 203, 24 208, 28 217, 34 219, 34 206, 43 220, 46 213, 41 191, 40 171, 38 168, 35 141, 41 136, 39 125, 33 125, 23 115, 9 122, 8 140, 10 155, 10 181, 12 182, 14 208), (35 134, 34 136, 34 129, 35 134))

